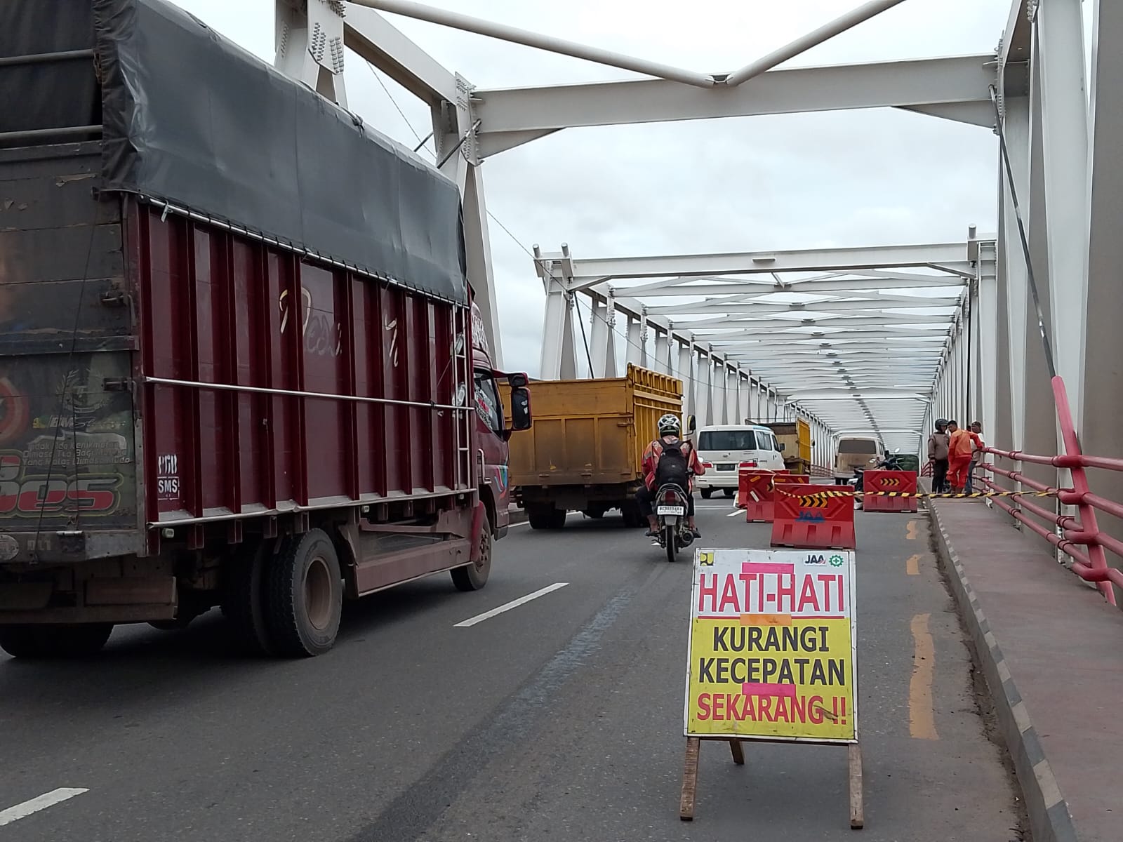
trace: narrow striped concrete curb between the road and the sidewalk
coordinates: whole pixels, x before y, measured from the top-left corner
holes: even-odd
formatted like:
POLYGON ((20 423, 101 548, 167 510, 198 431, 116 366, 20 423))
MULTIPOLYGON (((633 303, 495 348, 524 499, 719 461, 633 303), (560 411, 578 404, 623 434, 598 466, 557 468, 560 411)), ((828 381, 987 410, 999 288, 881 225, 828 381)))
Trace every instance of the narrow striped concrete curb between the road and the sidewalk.
POLYGON ((1072 816, 1068 812, 1068 803, 1060 794, 1060 787, 1046 758, 1041 739, 1030 720, 1022 694, 1017 692, 1010 667, 1006 666, 1002 649, 998 648, 998 641, 990 631, 990 624, 983 613, 978 596, 959 562, 951 538, 940 521, 940 513, 934 506, 928 511, 937 539, 940 562, 948 573, 952 593, 971 637, 975 659, 983 669, 987 688, 994 699, 998 730, 1014 760, 1014 771, 1017 774, 1017 782, 1025 800, 1033 840, 1078 842, 1072 816))

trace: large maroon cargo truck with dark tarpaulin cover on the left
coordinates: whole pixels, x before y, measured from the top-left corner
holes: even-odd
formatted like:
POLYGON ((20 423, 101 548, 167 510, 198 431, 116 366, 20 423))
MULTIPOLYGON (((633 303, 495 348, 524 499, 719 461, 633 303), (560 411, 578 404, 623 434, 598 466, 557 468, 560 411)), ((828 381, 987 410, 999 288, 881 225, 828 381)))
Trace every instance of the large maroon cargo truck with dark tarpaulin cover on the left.
POLYGON ((319 655, 344 600, 483 587, 530 404, 455 184, 163 0, 65 4, 0 13, 0 647, 220 605, 319 655))

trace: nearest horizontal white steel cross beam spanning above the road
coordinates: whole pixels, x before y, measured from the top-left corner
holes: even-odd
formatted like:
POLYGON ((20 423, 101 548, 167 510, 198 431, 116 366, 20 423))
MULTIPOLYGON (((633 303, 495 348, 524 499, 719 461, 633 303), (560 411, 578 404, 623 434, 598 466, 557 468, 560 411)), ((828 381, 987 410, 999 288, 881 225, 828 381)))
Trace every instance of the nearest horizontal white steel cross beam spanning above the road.
MULTIPOLYGON (((482 90, 484 154, 491 135, 582 126, 704 120, 866 108, 957 106, 952 119, 992 128, 994 55, 775 70, 751 85, 699 92, 677 82, 637 80, 482 90)), ((510 148, 504 140, 504 148, 510 148)))

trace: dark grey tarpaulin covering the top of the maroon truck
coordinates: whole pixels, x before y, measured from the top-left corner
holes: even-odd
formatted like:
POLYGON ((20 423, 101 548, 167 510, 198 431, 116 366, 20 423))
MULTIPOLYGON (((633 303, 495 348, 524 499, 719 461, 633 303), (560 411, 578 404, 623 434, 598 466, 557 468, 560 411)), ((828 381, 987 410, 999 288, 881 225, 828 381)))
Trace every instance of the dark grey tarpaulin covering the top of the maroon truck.
POLYGON ((467 300, 456 185, 164 0, 93 0, 104 189, 467 300))

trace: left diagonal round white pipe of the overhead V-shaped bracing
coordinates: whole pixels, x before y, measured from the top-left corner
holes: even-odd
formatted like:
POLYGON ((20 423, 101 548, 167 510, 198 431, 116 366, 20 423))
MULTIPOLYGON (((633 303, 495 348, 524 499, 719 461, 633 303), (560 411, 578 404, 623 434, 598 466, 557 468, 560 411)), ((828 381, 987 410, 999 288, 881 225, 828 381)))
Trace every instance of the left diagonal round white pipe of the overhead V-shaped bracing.
POLYGON ((422 6, 421 3, 411 2, 411 0, 350 0, 350 2, 356 6, 381 9, 382 11, 416 18, 418 20, 427 20, 430 24, 438 24, 439 26, 463 29, 464 31, 484 35, 489 38, 499 38, 500 40, 522 44, 528 47, 536 47, 550 53, 573 56, 574 58, 584 58, 585 61, 605 64, 610 67, 620 67, 622 70, 630 70, 649 76, 674 80, 687 85, 695 85, 697 88, 714 86, 713 76, 706 73, 696 73, 694 71, 682 70, 681 67, 672 67, 670 65, 660 64, 659 62, 649 62, 646 58, 633 58, 632 56, 613 53, 610 49, 591 47, 586 44, 577 44, 576 42, 565 40, 564 38, 555 38, 551 35, 531 33, 526 29, 506 26, 505 24, 495 24, 493 21, 474 18, 468 15, 460 15, 455 11, 446 11, 445 9, 437 9, 431 6, 422 6))

